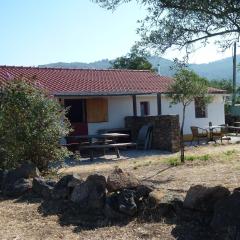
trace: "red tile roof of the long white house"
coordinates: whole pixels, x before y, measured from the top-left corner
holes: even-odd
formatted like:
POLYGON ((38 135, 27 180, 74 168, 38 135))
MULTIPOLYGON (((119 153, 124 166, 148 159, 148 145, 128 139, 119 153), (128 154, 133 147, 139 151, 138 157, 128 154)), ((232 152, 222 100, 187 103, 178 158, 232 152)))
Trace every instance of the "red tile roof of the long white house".
MULTIPOLYGON (((35 77, 38 85, 54 95, 118 95, 167 93, 173 79, 150 71, 96 70, 0 66, 0 82, 35 77)), ((219 89, 209 89, 221 93, 219 89)))

